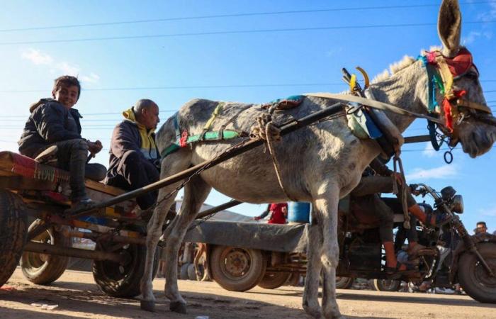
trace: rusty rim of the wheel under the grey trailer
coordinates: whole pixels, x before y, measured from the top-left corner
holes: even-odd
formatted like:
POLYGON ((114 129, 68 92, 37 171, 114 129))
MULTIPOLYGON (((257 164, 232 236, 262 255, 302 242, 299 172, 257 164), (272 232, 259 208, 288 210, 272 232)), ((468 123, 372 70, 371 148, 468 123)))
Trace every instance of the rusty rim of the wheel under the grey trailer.
POLYGON ((242 279, 252 267, 252 255, 242 248, 224 250, 220 260, 222 260, 220 269, 225 276, 232 280, 242 279))

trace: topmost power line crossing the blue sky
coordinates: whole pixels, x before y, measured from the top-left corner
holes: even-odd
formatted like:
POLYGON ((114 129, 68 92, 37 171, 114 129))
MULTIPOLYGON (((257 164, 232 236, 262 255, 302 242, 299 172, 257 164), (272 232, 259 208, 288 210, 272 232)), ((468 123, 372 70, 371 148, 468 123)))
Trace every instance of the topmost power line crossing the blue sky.
MULTIPOLYGON (((496 1, 469 1, 461 2, 460 4, 492 4, 496 1)), ((100 22, 100 23, 79 23, 79 24, 67 24, 61 26, 38 26, 30 28, 12 28, 3 29, 0 32, 13 32, 13 31, 28 31, 28 30, 49 30, 49 29, 61 29, 61 28, 81 28, 81 27, 94 27, 94 26, 116 26, 121 24, 131 24, 131 23, 152 23, 152 22, 166 22, 166 21, 181 21, 181 20, 199 20, 199 19, 211 19, 211 18, 235 18, 242 16, 269 16, 269 15, 281 15, 281 14, 295 14, 295 13, 319 13, 319 12, 332 12, 332 11, 364 11, 364 10, 384 10, 384 9, 413 9, 413 8, 427 8, 427 7, 437 7, 439 4, 412 4, 405 6, 365 6, 365 7, 350 7, 350 8, 333 8, 333 9, 313 9, 313 10, 291 10, 291 11, 268 11, 268 12, 252 12, 252 13, 227 13, 227 14, 216 14, 210 16, 184 16, 175 18, 156 18, 156 19, 143 19, 143 20, 131 20, 131 21, 110 21, 110 22, 100 22)))

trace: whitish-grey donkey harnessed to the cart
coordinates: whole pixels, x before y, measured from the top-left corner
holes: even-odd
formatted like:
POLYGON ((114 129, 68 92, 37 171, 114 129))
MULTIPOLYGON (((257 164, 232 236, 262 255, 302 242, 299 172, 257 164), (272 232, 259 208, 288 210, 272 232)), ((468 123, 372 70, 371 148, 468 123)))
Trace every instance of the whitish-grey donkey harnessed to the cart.
MULTIPOLYGON (((443 43, 442 56, 457 57, 460 50, 461 13, 458 1, 444 0, 438 19, 439 38, 443 43)), ((468 51, 466 51, 468 52, 468 51)), ((441 52, 439 52, 441 56, 441 52)), ((464 98, 473 105, 487 109, 483 90, 478 82, 475 66, 466 67, 464 74, 458 74, 453 82, 454 89, 463 89, 464 98)), ((389 77, 376 80, 369 88, 377 101, 391 103, 409 111, 427 113, 428 82, 426 68, 421 60, 408 58, 396 67, 389 77)), ((443 96, 436 92, 435 99, 443 96)), ((217 101, 195 99, 181 107, 176 118, 169 118, 157 133, 159 150, 165 150, 176 141, 176 124, 181 132, 199 134, 205 122, 213 113, 217 101)), ((289 118, 302 118, 336 103, 332 99, 307 96, 297 108, 274 113, 274 121, 283 123, 289 118)), ((451 136, 451 141, 461 142, 463 152, 470 157, 483 155, 490 150, 496 139, 496 119, 490 111, 456 106, 458 121, 453 130, 443 128, 451 136), (461 116, 465 114, 466 116, 461 116)), ((265 111, 259 105, 225 103, 222 113, 215 118, 213 130, 230 122, 227 128, 249 132, 254 119, 265 111)), ((446 111, 448 112, 448 111, 446 111)), ((447 116, 439 111, 438 116, 447 116)), ((404 131, 413 118, 386 113, 400 131, 404 131)), ((453 111, 453 114, 455 112, 453 111)), ((456 115, 455 114, 455 115, 456 115)), ((183 147, 162 160, 161 177, 188 169, 195 164, 211 159, 228 147, 237 144, 238 139, 215 142, 200 142, 193 147, 183 147)), ((342 318, 336 302, 335 269, 338 264, 339 247, 337 242, 337 208, 339 198, 344 197, 359 183, 361 173, 377 157, 381 149, 371 139, 359 139, 351 133, 346 118, 320 121, 314 125, 285 135, 275 144, 274 152, 281 163, 280 173, 286 193, 298 201, 312 203, 312 224, 309 231, 308 269, 303 293, 303 308, 314 318, 342 318), (318 286, 322 270, 322 307, 318 301, 318 286)), ((148 224, 147 257, 145 274, 141 281, 142 308, 152 310, 152 264, 162 225, 166 219, 174 196, 162 201, 164 196, 176 186, 164 187, 159 191, 159 204, 154 209, 148 224)), ((262 147, 222 162, 205 170, 186 184, 184 202, 179 214, 165 230, 164 238, 167 256, 165 269, 165 295, 170 299, 170 309, 186 313, 186 301, 181 297, 177 286, 177 255, 179 245, 210 190, 214 187, 222 194, 247 203, 271 203, 287 201, 285 191, 278 184, 273 162, 262 147)))

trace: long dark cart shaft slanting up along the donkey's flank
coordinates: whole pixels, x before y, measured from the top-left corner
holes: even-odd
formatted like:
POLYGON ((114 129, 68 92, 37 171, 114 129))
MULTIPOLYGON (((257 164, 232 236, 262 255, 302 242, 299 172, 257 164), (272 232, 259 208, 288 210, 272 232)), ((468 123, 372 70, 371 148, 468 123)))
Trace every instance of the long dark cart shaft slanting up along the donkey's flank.
MULTIPOLYGON (((290 123, 283 125, 281 127, 281 135, 286 135, 286 134, 291 133, 295 130, 303 128, 303 127, 305 127, 305 126, 307 126, 307 125, 309 125, 315 121, 319 121, 322 118, 327 118, 327 116, 332 116, 335 113, 342 111, 342 109, 343 109, 342 103, 338 102, 338 103, 332 104, 332 106, 329 106, 323 110, 320 110, 320 111, 312 113, 308 116, 305 116, 304 118, 300 118, 299 120, 291 121, 290 123)), ((91 213, 91 211, 94 211, 96 209, 104 208, 107 206, 112 206, 112 205, 115 205, 116 203, 120 203, 121 201, 127 201, 128 199, 135 198, 135 197, 140 196, 142 194, 145 194, 149 191, 154 191, 155 189, 161 189, 164 186, 174 184, 178 181, 181 181, 183 179, 190 177, 198 169, 201 169, 203 166, 205 166, 205 164, 211 163, 210 167, 214 167, 215 165, 217 165, 221 162, 225 162, 227 159, 231 159, 232 157, 235 157, 239 154, 242 154, 244 152, 252 150, 257 146, 264 144, 264 142, 265 142, 264 140, 250 140, 246 144, 244 144, 242 147, 238 147, 238 148, 230 150, 229 152, 225 152, 224 154, 220 155, 219 157, 217 157, 215 159, 201 162, 200 164, 197 164, 193 167, 185 169, 182 172, 171 175, 165 179, 161 179, 161 180, 156 181, 156 182, 149 184, 147 186, 141 187, 140 189, 135 189, 134 191, 130 191, 128 193, 121 194, 119 196, 115 196, 114 198, 111 198, 108 201, 102 201, 100 203, 97 203, 92 208, 89 208, 89 209, 86 208, 86 209, 81 209, 79 211, 74 211, 72 218, 78 218, 81 216, 86 216, 86 215, 89 215, 91 213)))

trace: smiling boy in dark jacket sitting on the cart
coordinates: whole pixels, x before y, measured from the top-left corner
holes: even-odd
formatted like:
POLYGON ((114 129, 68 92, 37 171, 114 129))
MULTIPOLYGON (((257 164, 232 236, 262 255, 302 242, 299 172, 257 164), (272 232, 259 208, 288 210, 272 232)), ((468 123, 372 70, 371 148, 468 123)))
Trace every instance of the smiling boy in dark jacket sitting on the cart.
POLYGON ((38 162, 57 159, 57 167, 69 171, 72 210, 88 208, 94 202, 86 196, 84 177, 101 181, 106 168, 101 164, 86 164, 88 152, 100 152, 99 140, 81 138, 79 111, 73 108, 81 95, 76 77, 64 75, 55 79, 53 99, 41 99, 30 106, 30 116, 19 140, 19 152, 38 162))

